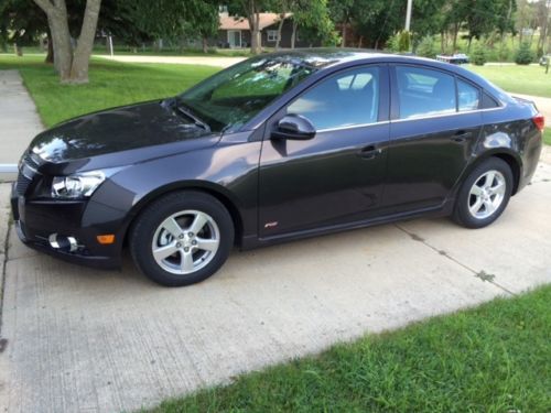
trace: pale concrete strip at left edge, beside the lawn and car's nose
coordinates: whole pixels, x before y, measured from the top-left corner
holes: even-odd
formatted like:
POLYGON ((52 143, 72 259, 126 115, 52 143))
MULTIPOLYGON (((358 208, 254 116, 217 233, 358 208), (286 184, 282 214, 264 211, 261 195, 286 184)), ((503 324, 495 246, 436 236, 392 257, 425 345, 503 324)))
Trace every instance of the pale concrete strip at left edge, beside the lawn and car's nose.
POLYGON ((0 70, 0 164, 17 164, 44 128, 18 70, 0 70))

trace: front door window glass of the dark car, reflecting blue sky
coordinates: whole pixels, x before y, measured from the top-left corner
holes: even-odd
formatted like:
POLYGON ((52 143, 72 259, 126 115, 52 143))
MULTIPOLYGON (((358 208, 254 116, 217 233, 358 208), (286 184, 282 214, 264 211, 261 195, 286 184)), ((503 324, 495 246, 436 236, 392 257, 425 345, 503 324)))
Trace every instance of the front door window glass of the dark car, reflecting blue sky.
POLYGON ((364 126, 379 115, 379 68, 363 67, 331 76, 288 107, 316 130, 364 126))

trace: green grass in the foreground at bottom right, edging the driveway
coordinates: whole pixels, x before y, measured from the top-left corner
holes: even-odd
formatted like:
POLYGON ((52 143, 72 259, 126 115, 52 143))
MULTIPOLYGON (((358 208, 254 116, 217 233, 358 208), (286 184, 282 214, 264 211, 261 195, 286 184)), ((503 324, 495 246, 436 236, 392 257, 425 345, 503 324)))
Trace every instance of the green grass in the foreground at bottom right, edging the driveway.
POLYGON ((337 345, 155 412, 551 412, 551 286, 337 345))

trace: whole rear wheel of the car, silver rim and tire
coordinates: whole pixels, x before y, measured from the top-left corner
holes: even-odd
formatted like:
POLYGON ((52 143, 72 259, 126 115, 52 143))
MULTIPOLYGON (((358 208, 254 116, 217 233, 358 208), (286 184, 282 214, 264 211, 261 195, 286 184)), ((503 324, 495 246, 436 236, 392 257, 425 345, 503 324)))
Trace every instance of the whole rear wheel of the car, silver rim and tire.
POLYGON ((507 162, 490 157, 463 183, 455 204, 454 220, 467 228, 483 228, 505 210, 512 192, 512 172, 507 162))

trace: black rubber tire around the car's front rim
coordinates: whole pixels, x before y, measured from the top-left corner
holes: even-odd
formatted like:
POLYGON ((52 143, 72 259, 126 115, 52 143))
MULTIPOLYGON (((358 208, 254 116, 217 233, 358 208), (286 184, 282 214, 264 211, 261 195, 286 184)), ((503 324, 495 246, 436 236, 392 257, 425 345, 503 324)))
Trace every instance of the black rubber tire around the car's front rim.
POLYGON ((234 233, 231 216, 218 199, 202 192, 182 191, 168 194, 145 207, 132 225, 129 247, 136 265, 149 279, 165 286, 183 286, 209 278, 224 264, 234 244, 234 233), (166 218, 184 210, 208 215, 217 226, 219 243, 205 267, 192 273, 174 274, 163 269, 153 257, 153 238, 166 218))

